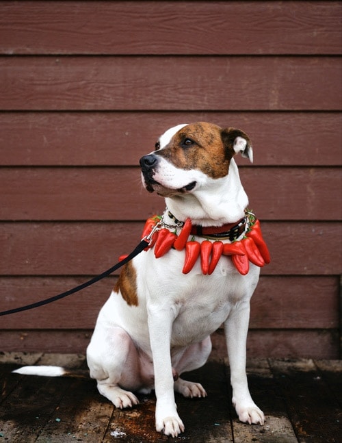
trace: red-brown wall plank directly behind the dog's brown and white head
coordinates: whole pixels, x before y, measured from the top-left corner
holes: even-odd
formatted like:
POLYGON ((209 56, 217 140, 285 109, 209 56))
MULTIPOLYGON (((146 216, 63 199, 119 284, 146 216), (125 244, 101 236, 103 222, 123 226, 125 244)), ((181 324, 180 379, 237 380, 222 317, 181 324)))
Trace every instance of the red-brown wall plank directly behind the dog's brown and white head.
POLYGON ((0 112, 0 164, 137 166, 166 129, 196 121, 244 129, 252 167, 341 164, 339 112, 0 112))

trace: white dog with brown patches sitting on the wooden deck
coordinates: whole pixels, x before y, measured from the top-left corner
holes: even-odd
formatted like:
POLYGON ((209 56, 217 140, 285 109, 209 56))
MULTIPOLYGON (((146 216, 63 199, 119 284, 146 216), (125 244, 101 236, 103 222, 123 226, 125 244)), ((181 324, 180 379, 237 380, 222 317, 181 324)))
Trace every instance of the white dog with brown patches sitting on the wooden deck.
MULTIPOLYGON (((237 153, 252 162, 252 144, 240 129, 203 122, 168 129, 155 151, 140 160, 144 188, 166 202, 159 229, 180 236, 189 219, 189 242, 219 238, 230 244, 244 238, 248 197, 233 158, 237 153)), ((200 260, 184 273, 185 248, 171 248, 157 258, 155 247, 124 265, 98 314, 87 349, 98 391, 116 407, 126 408, 138 403, 133 392, 154 389, 157 431, 178 436, 185 427, 174 391, 191 398, 207 396, 200 383, 181 375, 207 362, 210 335, 223 323, 237 416, 263 425, 264 414, 250 396, 246 377, 250 298, 259 266, 250 264, 241 275, 231 257, 222 255, 210 275, 204 275, 200 260)))

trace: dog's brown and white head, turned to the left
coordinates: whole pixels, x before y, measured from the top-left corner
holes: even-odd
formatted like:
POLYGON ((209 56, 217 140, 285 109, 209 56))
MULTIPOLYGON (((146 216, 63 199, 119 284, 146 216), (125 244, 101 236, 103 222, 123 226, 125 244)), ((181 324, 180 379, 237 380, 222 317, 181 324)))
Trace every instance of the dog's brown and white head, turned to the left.
POLYGON ((236 153, 253 161, 250 139, 240 129, 202 122, 172 127, 140 159, 144 186, 163 197, 194 192, 228 175, 236 153))

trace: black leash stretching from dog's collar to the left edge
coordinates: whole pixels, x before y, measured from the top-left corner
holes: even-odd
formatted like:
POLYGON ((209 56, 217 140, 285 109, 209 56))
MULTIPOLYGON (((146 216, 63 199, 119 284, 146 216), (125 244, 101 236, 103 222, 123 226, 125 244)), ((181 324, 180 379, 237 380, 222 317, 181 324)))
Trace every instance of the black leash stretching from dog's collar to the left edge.
POLYGON ((116 265, 112 266, 108 270, 105 270, 104 273, 102 273, 100 275, 97 275, 96 277, 93 277, 92 279, 86 281, 85 283, 82 283, 79 286, 76 286, 76 288, 70 289, 70 290, 68 290, 66 292, 62 292, 62 294, 55 295, 53 297, 50 297, 49 299, 45 299, 45 300, 42 300, 42 301, 37 301, 36 303, 31 303, 31 305, 16 307, 14 309, 8 309, 8 311, 0 312, 0 316, 7 316, 9 314, 16 314, 16 312, 27 311, 28 309, 33 309, 34 307, 39 307, 39 306, 47 305, 48 303, 52 303, 53 301, 57 301, 57 300, 63 299, 64 297, 66 297, 68 295, 75 294, 75 292, 79 292, 79 291, 81 291, 84 288, 88 288, 88 286, 96 283, 97 281, 100 281, 100 280, 104 279, 105 277, 108 277, 108 275, 110 275, 111 273, 114 273, 114 270, 117 270, 118 268, 121 268, 121 266, 124 266, 124 264, 126 264, 130 260, 132 260, 133 257, 135 257, 135 255, 138 255, 139 253, 141 253, 146 248, 146 246, 148 246, 148 244, 149 244, 149 242, 146 242, 145 240, 142 240, 136 246, 136 248, 129 255, 127 255, 126 258, 124 258, 123 260, 121 260, 119 263, 117 263, 116 265))

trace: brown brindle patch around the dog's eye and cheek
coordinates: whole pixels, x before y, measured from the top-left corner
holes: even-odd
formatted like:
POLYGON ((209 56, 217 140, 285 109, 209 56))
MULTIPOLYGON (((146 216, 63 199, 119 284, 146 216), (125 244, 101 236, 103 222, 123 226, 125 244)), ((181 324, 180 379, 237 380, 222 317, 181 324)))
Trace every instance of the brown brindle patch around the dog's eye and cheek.
POLYGON ((165 148, 157 151, 157 155, 166 158, 177 168, 201 170, 213 179, 224 177, 235 154, 231 138, 224 135, 226 131, 205 122, 187 125, 172 137, 165 148))

